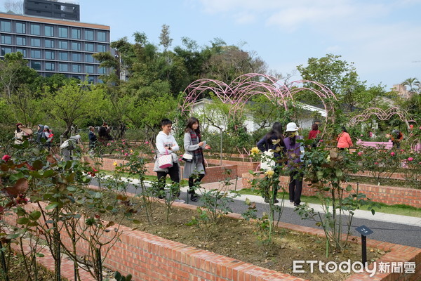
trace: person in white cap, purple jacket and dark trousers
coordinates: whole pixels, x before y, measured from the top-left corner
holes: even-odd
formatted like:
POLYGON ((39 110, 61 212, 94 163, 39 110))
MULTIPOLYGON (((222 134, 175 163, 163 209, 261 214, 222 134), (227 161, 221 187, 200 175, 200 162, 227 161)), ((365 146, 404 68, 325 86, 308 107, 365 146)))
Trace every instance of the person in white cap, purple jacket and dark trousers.
POLYGON ((302 191, 302 157, 304 156, 304 146, 297 140, 302 140, 302 136, 297 135, 298 126, 291 122, 286 125, 287 138, 283 139, 288 156, 288 169, 290 169, 289 197, 290 204, 295 207, 300 206, 302 191))

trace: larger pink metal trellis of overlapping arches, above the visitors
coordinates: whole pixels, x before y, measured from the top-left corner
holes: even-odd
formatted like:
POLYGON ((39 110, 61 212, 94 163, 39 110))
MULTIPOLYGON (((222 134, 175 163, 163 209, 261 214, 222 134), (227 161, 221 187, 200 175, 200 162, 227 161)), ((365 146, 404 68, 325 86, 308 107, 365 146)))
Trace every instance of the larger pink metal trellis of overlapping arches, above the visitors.
MULTIPOLYGON (((199 79, 189 84, 185 89, 185 100, 180 105, 182 112, 189 111, 202 93, 211 91, 222 103, 230 104, 229 117, 243 114, 246 102, 255 95, 265 96, 271 103, 275 103, 288 110, 288 100, 293 101, 293 96, 301 91, 312 91, 323 103, 326 110, 326 122, 334 121, 335 108, 333 100, 338 100, 335 94, 323 84, 315 81, 299 80, 290 84, 283 84, 276 77, 267 74, 248 73, 234 79, 229 85, 214 79, 199 79), (303 84, 314 84, 319 89, 312 89, 302 86, 303 84)), ((325 127, 326 129, 326 127, 325 127)), ((323 131, 324 133, 324 131, 323 131)))

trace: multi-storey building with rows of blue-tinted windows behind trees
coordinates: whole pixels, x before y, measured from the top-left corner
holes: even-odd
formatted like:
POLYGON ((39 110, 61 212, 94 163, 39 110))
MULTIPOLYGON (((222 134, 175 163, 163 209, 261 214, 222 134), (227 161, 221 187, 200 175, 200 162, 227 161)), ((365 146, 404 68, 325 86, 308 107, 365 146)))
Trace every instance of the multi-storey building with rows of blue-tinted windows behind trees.
POLYGON ((58 5, 63 13, 52 13, 53 18, 0 13, 0 58, 6 53, 20 52, 29 67, 44 77, 62 73, 78 79, 88 76, 94 83, 100 81, 100 75, 106 74, 107 69, 99 67, 100 63, 92 55, 109 51, 109 26, 58 19, 70 14, 79 17, 79 5, 69 10, 63 8, 67 3, 25 0, 25 10, 32 7, 32 14, 36 9, 27 2, 41 5, 43 15, 46 13, 41 11, 44 2, 44 10, 48 10, 48 4, 53 10, 54 5, 58 5))

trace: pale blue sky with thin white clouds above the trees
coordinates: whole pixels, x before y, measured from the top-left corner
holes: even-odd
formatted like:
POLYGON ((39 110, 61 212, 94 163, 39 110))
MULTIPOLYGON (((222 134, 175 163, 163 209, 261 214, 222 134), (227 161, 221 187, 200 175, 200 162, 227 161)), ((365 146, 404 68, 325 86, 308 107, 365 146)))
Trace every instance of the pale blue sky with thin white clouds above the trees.
MULTIPOLYGON (((3 8, 6 0, 0 0, 3 8)), ((67 0, 66 0, 67 1, 67 0)), ((111 40, 145 32, 174 46, 215 38, 254 51, 270 70, 300 79, 297 65, 327 53, 354 63, 361 81, 390 89, 421 79, 421 0, 79 0, 81 22, 111 27, 111 40)))

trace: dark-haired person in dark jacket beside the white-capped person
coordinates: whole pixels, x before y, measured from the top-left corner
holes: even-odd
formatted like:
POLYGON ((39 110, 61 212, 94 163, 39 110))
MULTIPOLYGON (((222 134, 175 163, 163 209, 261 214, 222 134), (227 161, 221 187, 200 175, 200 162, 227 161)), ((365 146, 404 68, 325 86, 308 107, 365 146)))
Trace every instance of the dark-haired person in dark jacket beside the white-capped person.
MULTIPOLYGON (((283 128, 282 124, 279 122, 275 122, 272 125, 272 129, 267 133, 260 141, 258 141, 257 147, 263 153, 265 153, 265 158, 269 157, 271 159, 262 159, 260 164, 261 169, 272 169, 269 166, 281 166, 281 162, 279 162, 282 158, 283 153, 285 152, 285 145, 283 145, 283 128), (278 141, 279 140, 279 141, 278 141), (281 150, 276 151, 277 148, 281 150), (273 151, 273 152, 272 152, 273 151), (277 162, 274 163, 272 159, 277 159, 277 162)), ((269 190, 267 190, 269 192, 269 190)), ((274 203, 278 203, 279 200, 276 199, 276 195, 278 190, 274 190, 274 203)), ((265 202, 269 203, 269 193, 265 196, 265 202)))

